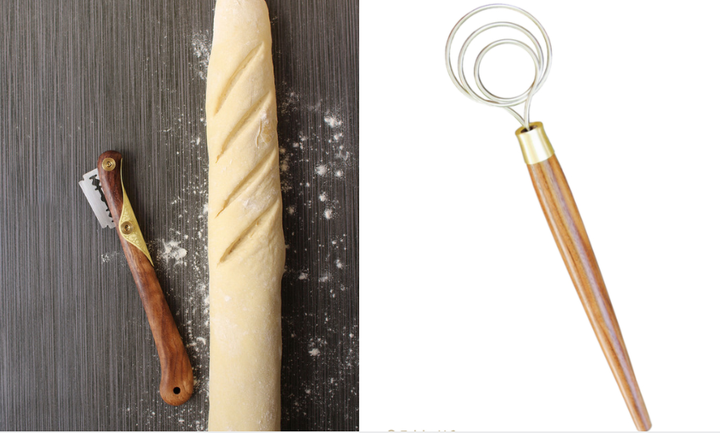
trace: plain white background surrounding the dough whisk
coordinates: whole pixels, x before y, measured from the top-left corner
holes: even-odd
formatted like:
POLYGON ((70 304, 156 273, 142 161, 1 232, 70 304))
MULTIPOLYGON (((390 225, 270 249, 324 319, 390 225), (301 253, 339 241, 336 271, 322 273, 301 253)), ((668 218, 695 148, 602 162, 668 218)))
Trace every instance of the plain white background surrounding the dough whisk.
MULTIPOLYGON (((481 4, 361 4, 360 428, 634 430, 520 125, 445 71, 450 29, 481 4)), ((572 187, 653 430, 718 430, 720 3, 515 4, 553 44, 531 119, 572 187)), ((491 54, 490 90, 524 90, 526 54, 491 54)))

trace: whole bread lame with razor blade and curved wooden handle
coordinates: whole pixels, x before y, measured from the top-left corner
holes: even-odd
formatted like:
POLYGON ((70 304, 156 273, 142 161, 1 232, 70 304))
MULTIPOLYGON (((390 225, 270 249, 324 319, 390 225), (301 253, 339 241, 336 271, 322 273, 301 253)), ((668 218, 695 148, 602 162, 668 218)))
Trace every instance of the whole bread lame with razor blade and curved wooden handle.
POLYGON ((122 161, 118 152, 103 153, 97 168, 83 176, 80 187, 100 225, 117 230, 160 358, 160 396, 167 404, 179 406, 192 396, 192 367, 125 192, 122 161))

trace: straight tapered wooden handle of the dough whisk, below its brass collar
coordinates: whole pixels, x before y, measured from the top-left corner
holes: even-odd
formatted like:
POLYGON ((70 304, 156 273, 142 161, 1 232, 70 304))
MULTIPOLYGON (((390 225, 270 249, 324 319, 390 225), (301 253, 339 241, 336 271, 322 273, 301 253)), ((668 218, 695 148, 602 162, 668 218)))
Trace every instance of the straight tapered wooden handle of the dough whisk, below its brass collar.
POLYGON ((630 410, 635 427, 652 426, 630 363, 600 267, 557 157, 528 165, 550 230, 575 284, 595 335, 630 410))

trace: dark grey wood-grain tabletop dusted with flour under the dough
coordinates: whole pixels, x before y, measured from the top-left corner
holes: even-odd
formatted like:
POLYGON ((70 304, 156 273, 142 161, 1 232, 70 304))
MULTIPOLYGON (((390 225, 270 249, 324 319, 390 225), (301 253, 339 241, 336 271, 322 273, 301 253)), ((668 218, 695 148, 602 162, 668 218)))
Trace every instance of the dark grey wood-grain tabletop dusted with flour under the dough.
MULTIPOLYGON (((269 0, 284 227, 283 429, 358 428, 358 2, 269 0)), ((205 77, 213 2, 0 2, 0 430, 207 428, 205 77), (195 368, 171 407, 117 235, 125 185, 195 368), (185 251, 186 255, 182 256, 185 251)))

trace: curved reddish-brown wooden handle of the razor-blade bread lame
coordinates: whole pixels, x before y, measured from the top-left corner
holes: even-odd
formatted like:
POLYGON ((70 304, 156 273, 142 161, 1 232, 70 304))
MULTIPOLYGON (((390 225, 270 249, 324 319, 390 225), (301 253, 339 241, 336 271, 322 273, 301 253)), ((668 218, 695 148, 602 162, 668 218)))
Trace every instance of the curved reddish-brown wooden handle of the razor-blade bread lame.
POLYGON ((122 155, 112 150, 100 155, 98 159, 100 182, 155 339, 162 369, 160 396, 166 403, 178 406, 192 396, 192 367, 155 275, 155 268, 139 248, 125 240, 120 231, 118 222, 123 207, 121 161, 122 155))

